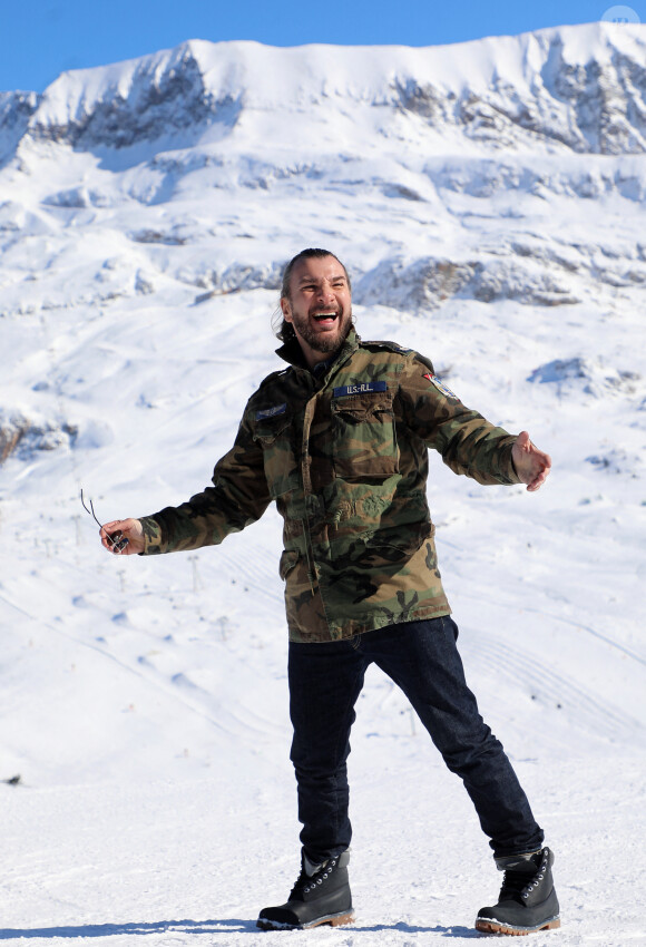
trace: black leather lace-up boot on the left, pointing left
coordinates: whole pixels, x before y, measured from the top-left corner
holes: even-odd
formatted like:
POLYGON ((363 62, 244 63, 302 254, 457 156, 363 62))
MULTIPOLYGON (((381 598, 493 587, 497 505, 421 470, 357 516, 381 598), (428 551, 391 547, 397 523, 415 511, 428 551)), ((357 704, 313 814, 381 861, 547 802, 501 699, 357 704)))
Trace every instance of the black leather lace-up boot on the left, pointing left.
POLYGON ((309 873, 303 856, 301 873, 287 902, 275 908, 263 908, 256 926, 262 930, 302 930, 320 924, 332 927, 352 924, 354 911, 348 880, 349 861, 350 853, 344 851, 309 873))

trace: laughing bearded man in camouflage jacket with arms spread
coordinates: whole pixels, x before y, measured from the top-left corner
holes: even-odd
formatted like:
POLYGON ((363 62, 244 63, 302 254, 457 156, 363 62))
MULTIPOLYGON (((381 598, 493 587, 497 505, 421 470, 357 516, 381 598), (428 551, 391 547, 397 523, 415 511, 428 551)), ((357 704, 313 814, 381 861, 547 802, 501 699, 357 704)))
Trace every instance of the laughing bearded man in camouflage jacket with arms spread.
POLYGON ((463 780, 505 871, 499 901, 479 911, 477 928, 518 935, 558 927, 554 856, 464 681, 425 494, 428 448, 480 484, 528 490, 545 482, 550 459, 527 432, 513 437, 466 408, 422 355, 362 342, 348 273, 327 251, 291 261, 281 309, 278 354, 290 367, 249 399, 213 487, 101 530, 112 553, 154 555, 221 543, 272 500, 284 517, 302 856, 287 901, 262 910, 258 927, 353 919, 346 760, 372 662, 403 690, 463 780))

